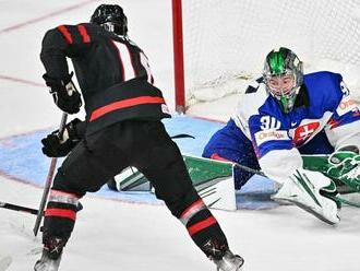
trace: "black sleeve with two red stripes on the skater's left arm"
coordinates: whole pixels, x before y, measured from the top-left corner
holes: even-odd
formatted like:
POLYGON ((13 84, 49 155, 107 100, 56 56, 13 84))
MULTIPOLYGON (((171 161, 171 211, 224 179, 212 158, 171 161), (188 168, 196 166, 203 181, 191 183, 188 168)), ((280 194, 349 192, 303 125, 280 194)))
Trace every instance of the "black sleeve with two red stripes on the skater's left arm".
POLYGON ((48 76, 62 79, 68 75, 67 57, 81 58, 94 43, 95 33, 89 24, 60 25, 49 30, 41 45, 40 59, 48 76))

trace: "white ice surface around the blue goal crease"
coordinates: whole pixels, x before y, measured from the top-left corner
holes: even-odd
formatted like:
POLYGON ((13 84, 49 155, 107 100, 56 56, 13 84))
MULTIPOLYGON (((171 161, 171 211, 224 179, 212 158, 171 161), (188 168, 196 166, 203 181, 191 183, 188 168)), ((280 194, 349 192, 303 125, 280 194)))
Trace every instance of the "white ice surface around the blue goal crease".
MULTIPOLYGON (((115 2, 115 1, 112 1, 115 2)), ((172 105, 172 45, 169 0, 122 0, 131 37, 146 51, 157 85, 172 105)), ((100 1, 0 1, 0 75, 41 84, 38 59, 45 31, 88 20, 100 1), (77 9, 53 14, 76 3, 77 9), (29 22, 20 27, 8 27, 29 22)), ((46 87, 0 78, 0 138, 57 126, 60 111, 46 87)), ((224 104, 226 110, 230 106, 224 104)), ((203 108, 205 110, 206 108, 203 108)), ((216 117, 216 116, 211 116, 216 117)), ((36 168, 34 168, 36 170, 36 168)), ((41 189, 0 176, 0 201, 37 208, 41 189)), ((64 271, 214 270, 187 231, 161 205, 85 198, 61 269, 64 271)), ((295 207, 265 211, 214 211, 247 271, 359 271, 360 211, 344 208, 338 226, 328 226, 295 207)), ((33 215, 0 209, 0 256, 10 271, 32 270, 40 248, 33 215)))

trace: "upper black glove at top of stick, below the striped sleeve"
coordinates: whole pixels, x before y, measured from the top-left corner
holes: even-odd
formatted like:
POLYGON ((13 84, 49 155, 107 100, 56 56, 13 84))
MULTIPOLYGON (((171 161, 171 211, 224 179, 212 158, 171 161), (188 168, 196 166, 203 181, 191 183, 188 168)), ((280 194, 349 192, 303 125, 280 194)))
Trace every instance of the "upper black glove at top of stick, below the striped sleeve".
POLYGON ((69 114, 79 113, 82 106, 81 94, 72 82, 73 73, 64 79, 52 79, 46 73, 43 75, 46 85, 50 89, 56 105, 63 111, 69 114))

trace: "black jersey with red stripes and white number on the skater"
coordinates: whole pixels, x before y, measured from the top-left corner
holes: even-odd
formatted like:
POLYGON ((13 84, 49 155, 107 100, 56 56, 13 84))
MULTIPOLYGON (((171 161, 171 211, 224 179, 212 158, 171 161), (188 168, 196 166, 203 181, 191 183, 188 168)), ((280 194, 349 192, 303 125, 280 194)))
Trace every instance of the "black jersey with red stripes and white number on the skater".
POLYGON ((87 133, 127 119, 170 117, 161 91, 153 85, 147 57, 129 38, 92 23, 48 31, 40 54, 47 75, 69 74, 73 62, 85 102, 87 133))

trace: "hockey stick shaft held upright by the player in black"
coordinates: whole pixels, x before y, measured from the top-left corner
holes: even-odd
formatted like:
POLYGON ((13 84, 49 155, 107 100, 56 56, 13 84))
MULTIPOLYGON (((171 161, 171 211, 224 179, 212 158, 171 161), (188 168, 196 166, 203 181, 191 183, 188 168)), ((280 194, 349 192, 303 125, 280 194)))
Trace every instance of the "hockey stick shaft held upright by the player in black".
MULTIPOLYGON (((64 132, 65 125, 67 125, 67 119, 68 119, 68 114, 67 113, 63 113, 62 114, 62 117, 61 117, 60 127, 59 127, 59 138, 60 139, 62 138, 62 134, 64 132)), ((43 192, 43 198, 41 198, 41 201, 40 201, 39 210, 37 212, 37 217, 36 217, 36 221, 35 221, 34 228, 33 228, 33 232, 34 232, 34 235, 35 236, 37 235, 37 233, 39 231, 39 227, 40 227, 40 223, 41 223, 41 220, 43 220, 45 205, 46 205, 46 202, 48 200, 48 196, 49 196, 50 188, 51 188, 51 185, 52 185, 52 177, 53 177, 53 174, 55 174, 56 166, 57 166, 57 157, 52 157, 51 158, 51 163, 50 163, 50 168, 49 168, 49 172, 48 172, 48 176, 47 176, 46 182, 45 182, 45 187, 44 187, 44 192, 43 192)))

